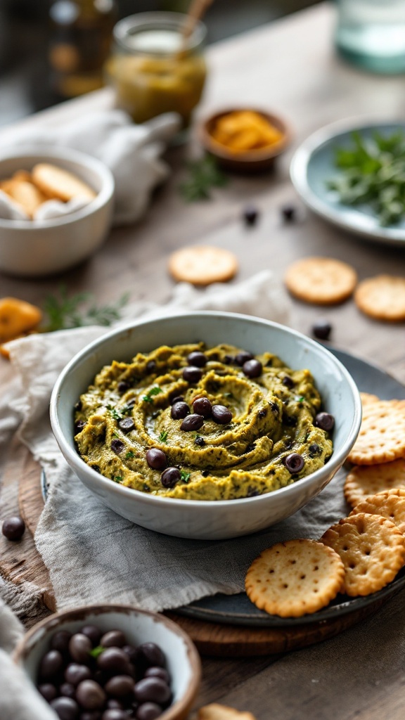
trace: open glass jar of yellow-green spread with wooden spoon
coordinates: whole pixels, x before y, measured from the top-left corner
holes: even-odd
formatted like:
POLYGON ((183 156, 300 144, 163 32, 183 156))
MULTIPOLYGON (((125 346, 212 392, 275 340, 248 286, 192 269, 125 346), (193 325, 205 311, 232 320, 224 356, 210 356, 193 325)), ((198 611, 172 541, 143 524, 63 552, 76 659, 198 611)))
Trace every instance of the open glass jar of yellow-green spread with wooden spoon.
POLYGON ((115 47, 105 67, 106 80, 116 92, 117 107, 145 122, 175 111, 190 124, 205 83, 205 25, 198 22, 183 40, 186 16, 147 12, 115 25, 115 47))

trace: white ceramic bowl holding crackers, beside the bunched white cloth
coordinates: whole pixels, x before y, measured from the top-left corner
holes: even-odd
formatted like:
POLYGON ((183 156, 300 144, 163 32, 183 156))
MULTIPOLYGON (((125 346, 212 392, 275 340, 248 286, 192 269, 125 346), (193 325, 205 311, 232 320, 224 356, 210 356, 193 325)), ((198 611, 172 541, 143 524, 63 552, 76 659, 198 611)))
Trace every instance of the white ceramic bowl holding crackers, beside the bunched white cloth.
POLYGON ((36 163, 51 163, 89 184, 97 197, 81 210, 53 220, 0 218, 0 270, 22 277, 61 272, 102 245, 112 222, 114 178, 99 160, 68 148, 9 150, 0 153, 0 180, 36 163))

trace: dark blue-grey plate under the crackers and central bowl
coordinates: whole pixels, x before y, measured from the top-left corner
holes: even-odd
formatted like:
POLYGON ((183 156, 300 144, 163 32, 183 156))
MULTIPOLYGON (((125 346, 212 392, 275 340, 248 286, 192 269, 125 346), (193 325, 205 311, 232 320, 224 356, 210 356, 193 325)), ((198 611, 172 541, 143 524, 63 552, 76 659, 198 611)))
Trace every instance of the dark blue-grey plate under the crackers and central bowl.
MULTIPOLYGON (((382 400, 392 400, 395 397, 399 400, 405 400, 404 385, 401 385, 401 383, 391 377, 391 375, 353 355, 335 350, 334 348, 329 348, 329 350, 347 367, 359 390, 378 395, 382 400)), ((404 587, 405 568, 401 570, 390 585, 387 585, 383 590, 379 590, 378 593, 367 595, 365 598, 347 598, 347 595, 338 595, 326 608, 312 615, 303 616, 302 618, 286 619, 278 618, 275 615, 268 615, 253 605, 245 593, 240 593, 239 595, 223 595, 222 593, 218 593, 217 595, 197 600, 195 603, 190 603, 190 605, 183 608, 177 608, 176 613, 198 620, 230 625, 274 628, 302 626, 321 620, 330 620, 338 616, 346 615, 346 613, 360 610, 360 608, 365 608, 378 600, 388 599, 404 587)))

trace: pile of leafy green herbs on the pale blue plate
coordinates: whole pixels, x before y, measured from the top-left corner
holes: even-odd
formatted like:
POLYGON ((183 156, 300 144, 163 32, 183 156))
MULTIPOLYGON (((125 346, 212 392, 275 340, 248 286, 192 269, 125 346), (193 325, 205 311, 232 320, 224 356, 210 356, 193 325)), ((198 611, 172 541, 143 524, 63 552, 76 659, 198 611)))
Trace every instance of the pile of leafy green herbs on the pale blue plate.
POLYGON ((370 138, 352 133, 352 147, 337 148, 335 165, 342 173, 326 186, 345 205, 368 205, 380 225, 405 217, 405 133, 402 130, 370 138))

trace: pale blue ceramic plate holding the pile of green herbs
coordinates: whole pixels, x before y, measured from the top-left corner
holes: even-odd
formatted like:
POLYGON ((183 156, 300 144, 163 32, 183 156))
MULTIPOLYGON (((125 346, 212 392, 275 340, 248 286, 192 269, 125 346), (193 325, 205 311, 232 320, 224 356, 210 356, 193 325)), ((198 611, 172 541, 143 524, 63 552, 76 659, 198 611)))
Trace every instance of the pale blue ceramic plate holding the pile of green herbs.
POLYGON ((405 130, 405 122, 375 122, 362 126, 346 124, 345 127, 339 123, 314 132, 296 150, 291 162, 293 185, 308 207, 324 220, 368 240, 405 248, 405 220, 399 225, 383 228, 370 207, 343 205, 337 192, 326 187, 326 181, 339 174, 334 165, 334 152, 337 147, 349 148, 352 145, 354 130, 364 138, 370 138, 375 131, 392 135, 396 130, 405 130))

